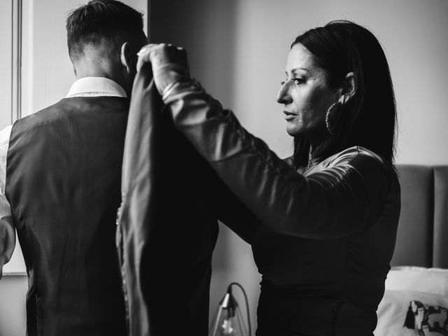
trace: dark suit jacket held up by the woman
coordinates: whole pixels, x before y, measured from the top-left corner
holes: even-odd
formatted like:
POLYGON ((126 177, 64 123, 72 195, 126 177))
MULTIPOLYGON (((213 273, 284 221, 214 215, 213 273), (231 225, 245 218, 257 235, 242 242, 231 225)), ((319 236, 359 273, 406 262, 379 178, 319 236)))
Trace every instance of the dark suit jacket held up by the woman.
POLYGON ((207 335, 216 183, 164 113, 146 65, 132 89, 118 216, 130 335, 207 335))

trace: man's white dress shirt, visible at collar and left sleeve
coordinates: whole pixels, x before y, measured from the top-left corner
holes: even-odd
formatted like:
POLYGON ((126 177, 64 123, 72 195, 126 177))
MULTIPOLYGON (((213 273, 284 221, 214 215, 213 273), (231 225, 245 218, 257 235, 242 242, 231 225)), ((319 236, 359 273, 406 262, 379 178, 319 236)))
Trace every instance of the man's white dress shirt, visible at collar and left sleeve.
MULTIPOLYGON (((65 98, 72 97, 127 97, 125 90, 115 81, 104 77, 80 78, 71 85, 65 98)), ((10 204, 6 199, 6 158, 9 138, 13 126, 0 131, 0 279, 3 265, 13 255, 15 248, 15 228, 10 204)))

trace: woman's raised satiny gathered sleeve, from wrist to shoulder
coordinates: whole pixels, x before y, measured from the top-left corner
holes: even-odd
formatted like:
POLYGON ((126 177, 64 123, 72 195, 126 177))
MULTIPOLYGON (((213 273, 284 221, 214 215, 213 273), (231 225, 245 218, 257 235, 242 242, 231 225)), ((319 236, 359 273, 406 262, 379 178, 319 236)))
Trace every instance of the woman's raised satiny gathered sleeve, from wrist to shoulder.
POLYGON ((367 230, 381 214, 393 169, 372 152, 350 151, 304 177, 194 80, 176 83, 164 98, 176 127, 271 230, 314 239, 342 237, 367 230))

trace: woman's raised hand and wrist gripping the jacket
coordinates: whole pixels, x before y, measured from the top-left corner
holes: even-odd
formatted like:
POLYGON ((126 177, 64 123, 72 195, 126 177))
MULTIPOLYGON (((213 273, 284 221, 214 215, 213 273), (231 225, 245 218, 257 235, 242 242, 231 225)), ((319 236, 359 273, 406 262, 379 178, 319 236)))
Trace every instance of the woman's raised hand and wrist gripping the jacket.
POLYGON ((155 86, 162 95, 169 87, 181 80, 190 79, 187 53, 183 48, 171 44, 148 44, 137 53, 137 71, 146 63, 151 63, 155 86))

